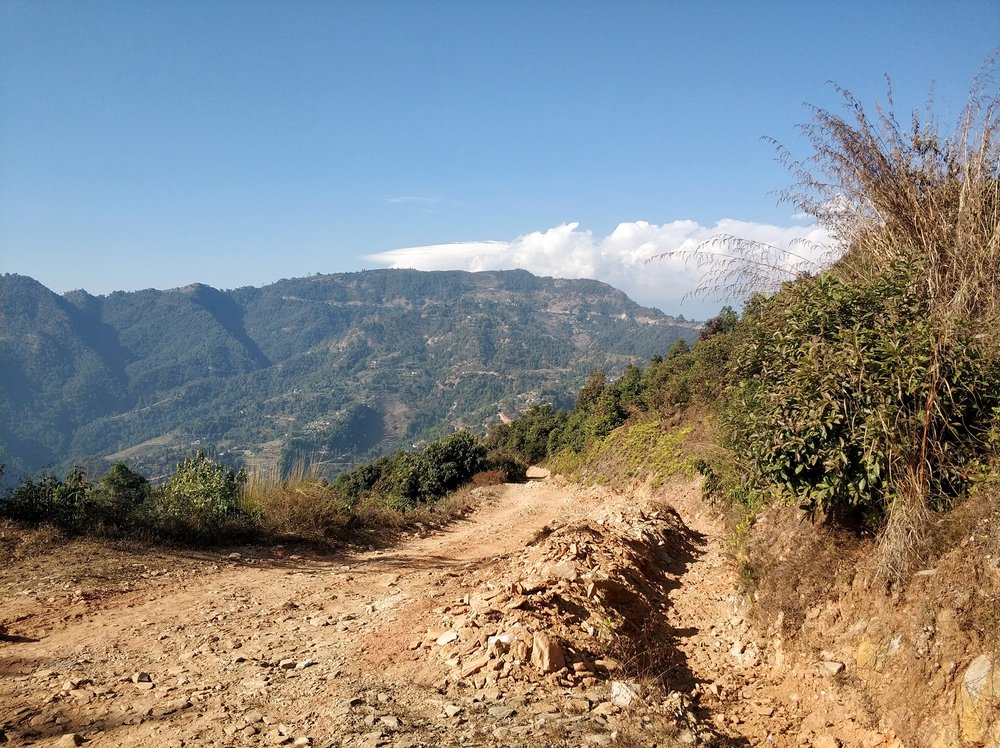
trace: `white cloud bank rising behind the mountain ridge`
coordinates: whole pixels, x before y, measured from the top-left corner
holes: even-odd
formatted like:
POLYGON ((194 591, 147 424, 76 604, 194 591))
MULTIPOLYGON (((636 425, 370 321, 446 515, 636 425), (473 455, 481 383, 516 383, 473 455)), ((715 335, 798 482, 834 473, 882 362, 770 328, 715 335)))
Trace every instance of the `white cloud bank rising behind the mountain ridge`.
POLYGON ((368 255, 364 259, 390 268, 415 270, 512 270, 557 278, 592 278, 627 293, 639 303, 671 314, 706 316, 730 299, 689 294, 702 282, 703 271, 685 259, 664 253, 701 251, 724 254, 713 243, 720 236, 736 236, 788 250, 821 263, 834 249, 830 234, 816 225, 774 226, 725 218, 714 226, 679 220, 662 225, 646 221, 618 224, 605 237, 595 237, 579 223, 564 223, 547 231, 533 231, 513 241, 455 242, 405 247, 368 255), (652 260, 652 261, 650 261, 652 260))

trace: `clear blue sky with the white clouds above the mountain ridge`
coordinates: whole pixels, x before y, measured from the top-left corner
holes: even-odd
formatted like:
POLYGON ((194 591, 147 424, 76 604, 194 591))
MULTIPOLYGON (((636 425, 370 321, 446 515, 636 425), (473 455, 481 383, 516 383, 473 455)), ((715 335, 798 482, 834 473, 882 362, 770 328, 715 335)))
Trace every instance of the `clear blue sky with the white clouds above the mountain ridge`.
MULTIPOLYGON (((704 316, 644 264, 814 229, 804 102, 957 117, 1000 2, 0 3, 0 270, 57 292, 523 266, 704 316)), ((812 232, 812 233, 811 233, 812 232)))

